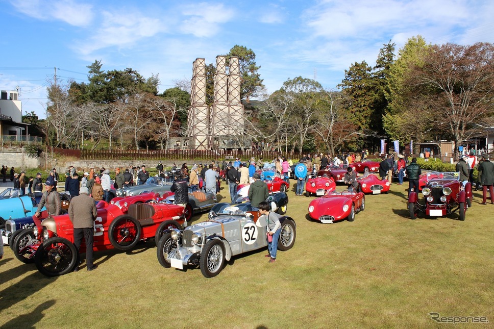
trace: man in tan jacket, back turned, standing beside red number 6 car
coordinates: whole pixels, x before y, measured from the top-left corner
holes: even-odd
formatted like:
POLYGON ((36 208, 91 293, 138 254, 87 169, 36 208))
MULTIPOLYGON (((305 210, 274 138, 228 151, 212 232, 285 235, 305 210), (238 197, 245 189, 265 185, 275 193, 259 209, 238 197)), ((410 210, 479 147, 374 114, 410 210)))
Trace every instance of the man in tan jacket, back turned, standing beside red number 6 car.
MULTIPOLYGON (((68 216, 74 226, 74 245, 77 251, 82 244, 82 239, 86 243, 86 266, 88 271, 96 269, 97 265, 93 264, 93 234, 94 220, 97 217, 96 204, 94 199, 90 197, 87 187, 81 187, 79 195, 70 200, 68 207, 68 216)), ((79 252, 78 252, 79 258, 79 252)), ((79 264, 79 259, 76 264, 79 264)), ((77 272, 79 267, 74 269, 77 272)))

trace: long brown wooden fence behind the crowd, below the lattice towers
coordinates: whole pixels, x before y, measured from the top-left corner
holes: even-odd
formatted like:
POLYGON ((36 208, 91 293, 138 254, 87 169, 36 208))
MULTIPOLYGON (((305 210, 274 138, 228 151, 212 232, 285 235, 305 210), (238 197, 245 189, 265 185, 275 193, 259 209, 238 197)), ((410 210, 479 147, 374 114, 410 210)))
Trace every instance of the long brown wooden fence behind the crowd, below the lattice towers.
MULTIPOLYGON (((47 151, 50 151, 48 149, 47 151)), ((256 160, 272 160, 279 156, 299 159, 299 153, 283 154, 278 151, 253 151, 253 150, 194 150, 194 149, 166 149, 166 150, 80 150, 53 148, 53 152, 76 157, 80 160, 164 160, 164 161, 187 161, 187 160, 223 160, 240 158, 242 161, 248 161, 251 157, 256 160)))

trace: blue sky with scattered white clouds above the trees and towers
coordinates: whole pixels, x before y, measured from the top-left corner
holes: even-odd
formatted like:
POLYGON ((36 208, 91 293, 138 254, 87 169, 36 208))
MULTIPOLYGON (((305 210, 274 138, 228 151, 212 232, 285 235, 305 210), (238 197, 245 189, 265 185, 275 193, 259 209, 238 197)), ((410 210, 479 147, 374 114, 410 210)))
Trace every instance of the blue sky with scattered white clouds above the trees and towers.
POLYGON ((491 0, 131 1, 0 0, 0 89, 20 87, 23 112, 45 117, 46 86, 87 80, 86 66, 159 74, 160 92, 190 80, 199 57, 214 63, 251 48, 271 93, 288 78, 336 89, 344 70, 374 65, 389 40, 494 42, 491 0))

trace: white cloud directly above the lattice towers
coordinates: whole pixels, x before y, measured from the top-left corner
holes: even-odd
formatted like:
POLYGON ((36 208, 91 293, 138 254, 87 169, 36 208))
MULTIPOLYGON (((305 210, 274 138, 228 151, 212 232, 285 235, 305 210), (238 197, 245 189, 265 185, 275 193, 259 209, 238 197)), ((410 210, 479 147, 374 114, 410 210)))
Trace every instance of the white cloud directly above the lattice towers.
POLYGON ((223 4, 186 5, 180 11, 188 17, 180 24, 180 31, 199 38, 216 35, 220 31, 220 23, 226 23, 235 16, 235 11, 223 4))

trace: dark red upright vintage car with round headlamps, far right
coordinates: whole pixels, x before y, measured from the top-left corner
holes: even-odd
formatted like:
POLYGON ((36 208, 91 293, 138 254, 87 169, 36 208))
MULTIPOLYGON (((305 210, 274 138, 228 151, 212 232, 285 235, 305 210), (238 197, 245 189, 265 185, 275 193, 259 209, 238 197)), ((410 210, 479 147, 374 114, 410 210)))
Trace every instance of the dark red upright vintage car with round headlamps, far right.
POLYGON ((410 218, 417 218, 418 212, 441 217, 458 211, 459 219, 465 220, 467 208, 472 207, 472 185, 460 182, 459 172, 439 172, 428 177, 422 189, 423 203, 418 201, 418 191, 412 190, 408 195, 410 218))

